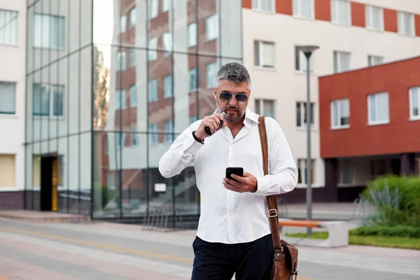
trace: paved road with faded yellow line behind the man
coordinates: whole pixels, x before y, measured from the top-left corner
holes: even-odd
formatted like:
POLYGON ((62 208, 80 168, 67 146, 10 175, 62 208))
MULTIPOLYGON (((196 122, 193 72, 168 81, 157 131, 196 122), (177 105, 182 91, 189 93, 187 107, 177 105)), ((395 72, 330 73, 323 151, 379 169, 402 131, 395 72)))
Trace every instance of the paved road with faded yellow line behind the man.
MULTIPOLYGON (((195 231, 0 218, 0 280, 190 279, 195 231)), ((299 280, 420 279, 420 251, 299 247, 299 280)))

